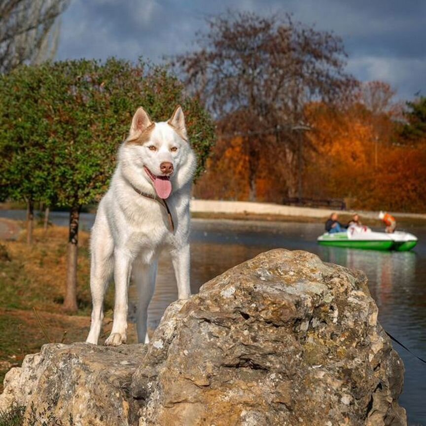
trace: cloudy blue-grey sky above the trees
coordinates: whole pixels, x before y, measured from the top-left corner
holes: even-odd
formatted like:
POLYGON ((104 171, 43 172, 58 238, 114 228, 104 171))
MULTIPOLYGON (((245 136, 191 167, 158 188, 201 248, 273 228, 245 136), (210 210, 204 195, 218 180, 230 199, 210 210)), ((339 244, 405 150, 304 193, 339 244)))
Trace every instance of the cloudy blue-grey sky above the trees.
POLYGON ((401 100, 426 95, 426 0, 71 0, 57 59, 161 62, 192 50, 205 18, 227 9, 291 13, 342 37, 347 71, 359 80, 385 81, 401 100))

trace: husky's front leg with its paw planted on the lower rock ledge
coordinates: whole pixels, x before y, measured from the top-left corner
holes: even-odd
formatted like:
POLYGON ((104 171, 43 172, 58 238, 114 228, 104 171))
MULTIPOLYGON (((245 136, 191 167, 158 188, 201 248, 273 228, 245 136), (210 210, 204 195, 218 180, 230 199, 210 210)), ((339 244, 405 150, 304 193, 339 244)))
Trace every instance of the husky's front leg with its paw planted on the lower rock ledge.
POLYGON ((106 346, 118 346, 127 340, 127 292, 129 287, 132 258, 120 250, 114 251, 115 303, 112 330, 106 346))

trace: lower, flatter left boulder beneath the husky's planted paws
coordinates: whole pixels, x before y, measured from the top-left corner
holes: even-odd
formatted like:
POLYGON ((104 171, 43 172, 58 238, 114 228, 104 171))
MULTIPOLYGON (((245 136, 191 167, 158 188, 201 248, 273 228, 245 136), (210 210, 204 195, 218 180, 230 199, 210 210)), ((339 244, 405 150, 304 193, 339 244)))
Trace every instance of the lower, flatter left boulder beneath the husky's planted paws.
POLYGON ((138 424, 139 404, 129 387, 146 349, 44 345, 39 354, 27 355, 21 368, 6 374, 0 410, 26 406, 27 426, 138 424))

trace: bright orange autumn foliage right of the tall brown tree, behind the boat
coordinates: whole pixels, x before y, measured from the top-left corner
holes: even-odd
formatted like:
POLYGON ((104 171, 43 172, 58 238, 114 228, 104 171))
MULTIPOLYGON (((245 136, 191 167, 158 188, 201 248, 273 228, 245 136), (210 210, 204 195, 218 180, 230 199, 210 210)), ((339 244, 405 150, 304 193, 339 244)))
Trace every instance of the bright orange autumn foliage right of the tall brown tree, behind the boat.
POLYGON ((426 210, 426 144, 401 145, 390 114, 359 105, 346 111, 311 106, 315 148, 305 167, 305 196, 346 198, 366 210, 426 210))

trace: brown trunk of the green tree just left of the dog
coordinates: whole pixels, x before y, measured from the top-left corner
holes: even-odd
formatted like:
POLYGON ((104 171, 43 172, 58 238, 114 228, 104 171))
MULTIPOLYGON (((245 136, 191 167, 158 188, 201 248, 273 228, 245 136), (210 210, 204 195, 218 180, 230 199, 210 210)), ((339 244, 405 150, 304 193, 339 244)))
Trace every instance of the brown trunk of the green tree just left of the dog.
POLYGON ((68 239, 67 288, 64 309, 68 312, 77 311, 77 249, 78 249, 78 219, 80 206, 72 207, 70 211, 70 236, 68 239))

